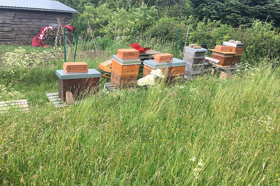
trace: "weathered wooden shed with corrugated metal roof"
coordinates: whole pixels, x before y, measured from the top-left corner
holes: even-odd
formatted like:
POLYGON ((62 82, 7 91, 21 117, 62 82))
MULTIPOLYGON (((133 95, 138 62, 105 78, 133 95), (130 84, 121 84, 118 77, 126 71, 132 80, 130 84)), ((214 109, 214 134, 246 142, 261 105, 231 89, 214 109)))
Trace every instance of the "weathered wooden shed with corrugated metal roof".
POLYGON ((49 24, 69 24, 78 11, 51 0, 0 0, 0 44, 31 44, 49 24))

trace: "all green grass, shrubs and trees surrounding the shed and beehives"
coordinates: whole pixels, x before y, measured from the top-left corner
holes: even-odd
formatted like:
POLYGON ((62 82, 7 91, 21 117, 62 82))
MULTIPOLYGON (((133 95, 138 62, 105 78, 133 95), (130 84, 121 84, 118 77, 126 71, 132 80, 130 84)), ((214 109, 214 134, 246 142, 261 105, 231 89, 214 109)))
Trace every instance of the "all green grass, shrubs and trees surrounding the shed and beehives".
POLYGON ((0 45, 0 101, 29 105, 0 113, 0 185, 280 185, 279 1, 62 2, 80 11, 75 34, 93 16, 100 51, 80 40, 76 56, 89 68, 135 29, 142 46, 181 58, 189 27, 187 44, 245 43, 247 68, 110 94, 100 78, 99 94, 55 108, 46 93, 58 92, 63 49, 0 45))

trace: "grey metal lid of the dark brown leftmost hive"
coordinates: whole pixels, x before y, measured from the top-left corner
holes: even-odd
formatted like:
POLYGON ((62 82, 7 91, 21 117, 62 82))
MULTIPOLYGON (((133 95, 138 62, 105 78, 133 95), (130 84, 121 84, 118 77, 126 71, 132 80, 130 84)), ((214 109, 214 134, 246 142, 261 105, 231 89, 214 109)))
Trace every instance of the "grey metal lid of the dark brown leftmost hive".
POLYGON ((67 73, 64 70, 56 70, 55 74, 60 79, 100 78, 101 73, 96 69, 88 69, 88 72, 67 73))

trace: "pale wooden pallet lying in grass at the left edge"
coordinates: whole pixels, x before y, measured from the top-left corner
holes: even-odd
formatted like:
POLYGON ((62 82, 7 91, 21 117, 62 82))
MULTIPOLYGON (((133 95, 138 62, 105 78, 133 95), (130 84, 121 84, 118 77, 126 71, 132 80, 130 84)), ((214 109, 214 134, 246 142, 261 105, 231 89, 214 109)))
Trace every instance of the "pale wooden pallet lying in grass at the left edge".
POLYGON ((28 104, 26 100, 0 101, 0 113, 7 112, 11 108, 28 111, 28 104))

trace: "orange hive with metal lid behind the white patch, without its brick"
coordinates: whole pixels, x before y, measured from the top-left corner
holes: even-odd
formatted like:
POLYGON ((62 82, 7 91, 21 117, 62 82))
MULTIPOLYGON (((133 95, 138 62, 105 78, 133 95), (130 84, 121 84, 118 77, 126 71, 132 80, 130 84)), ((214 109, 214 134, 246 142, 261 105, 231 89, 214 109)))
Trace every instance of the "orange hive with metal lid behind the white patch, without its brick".
POLYGON ((168 62, 157 62, 155 60, 144 60, 143 62, 143 77, 151 74, 152 70, 161 69, 165 77, 168 76, 170 70, 170 64, 168 62))

